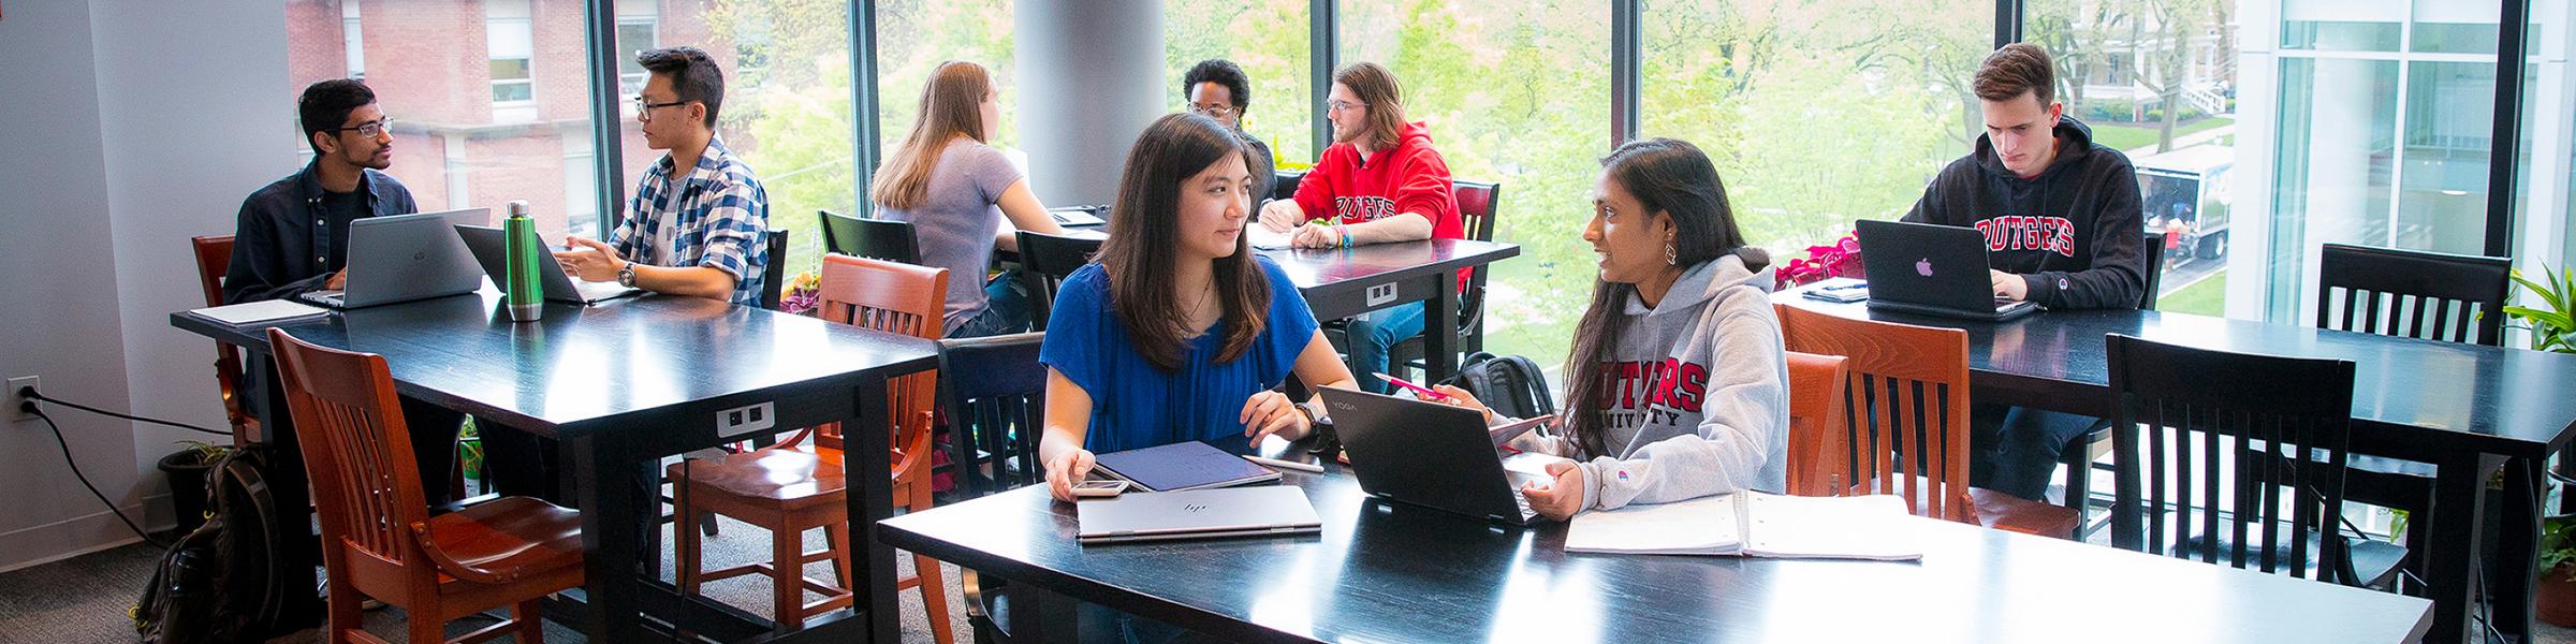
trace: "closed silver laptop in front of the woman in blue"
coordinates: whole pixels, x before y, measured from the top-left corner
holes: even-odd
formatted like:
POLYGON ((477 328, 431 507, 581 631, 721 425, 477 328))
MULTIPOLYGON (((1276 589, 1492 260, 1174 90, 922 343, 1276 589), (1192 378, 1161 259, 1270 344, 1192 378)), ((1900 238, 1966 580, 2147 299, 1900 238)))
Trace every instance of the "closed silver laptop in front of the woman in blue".
POLYGON ((1319 533, 1324 520, 1306 489, 1285 484, 1213 487, 1185 492, 1128 492, 1074 505, 1082 544, 1296 536, 1319 533))

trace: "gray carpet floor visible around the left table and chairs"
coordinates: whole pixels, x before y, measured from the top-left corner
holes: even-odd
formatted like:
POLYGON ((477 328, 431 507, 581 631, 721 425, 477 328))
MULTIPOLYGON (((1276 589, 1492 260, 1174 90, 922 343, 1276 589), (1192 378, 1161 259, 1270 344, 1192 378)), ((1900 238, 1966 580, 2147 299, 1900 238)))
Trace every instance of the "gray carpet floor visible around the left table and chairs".
MULTIPOLYGON (((724 518, 719 518, 724 520, 724 518)), ((665 544, 670 528, 665 526, 665 544)), ((806 531, 806 549, 822 549, 822 531, 806 531)), ((719 536, 706 541, 706 569, 768 562, 770 559, 770 533, 747 523, 724 520, 719 536)), ((912 574, 912 556, 896 554, 896 574, 912 574)), ((75 641, 134 641, 134 621, 126 611, 142 595, 144 582, 152 580, 152 567, 160 562, 160 551, 152 546, 124 546, 98 554, 85 554, 77 559, 64 559, 41 567, 26 567, 0 574, 0 641, 44 641, 44 644, 75 644, 75 641)), ((817 562, 806 567, 814 580, 832 580, 832 564, 817 562)), ((948 613, 958 641, 971 641, 966 629, 966 608, 958 600, 958 569, 940 564, 940 574, 948 580, 948 613)), ((662 580, 672 580, 670 549, 662 551, 662 580)), ((762 574, 732 577, 711 582, 703 590, 708 598, 737 605, 755 616, 770 613, 770 580, 762 574)), ((822 595, 806 595, 806 600, 819 600, 822 595)), ((922 595, 917 590, 902 592, 902 629, 904 641, 933 641, 930 618, 922 611, 922 595)), ((459 636, 497 618, 464 618, 448 623, 448 636, 459 636)), ((366 613, 366 631, 384 636, 389 641, 404 641, 402 608, 379 608, 366 613)), ((291 636, 270 639, 286 644, 322 641, 322 629, 299 631, 291 636)), ((546 623, 546 641, 585 641, 582 634, 572 631, 567 623, 546 623)))

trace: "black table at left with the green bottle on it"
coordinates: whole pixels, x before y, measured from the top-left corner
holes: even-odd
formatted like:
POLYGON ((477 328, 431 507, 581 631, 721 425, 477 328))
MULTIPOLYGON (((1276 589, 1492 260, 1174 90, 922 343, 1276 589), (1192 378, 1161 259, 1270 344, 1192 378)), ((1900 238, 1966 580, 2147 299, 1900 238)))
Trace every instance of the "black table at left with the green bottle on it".
MULTIPOLYGON (((270 368, 265 327, 229 327, 191 312, 170 325, 252 353, 270 368)), ((711 448, 773 430, 855 422, 850 466, 886 471, 886 379, 938 366, 938 345, 811 317, 732 307, 690 296, 639 296, 600 307, 546 304, 544 322, 513 325, 500 294, 446 296, 335 314, 286 327, 307 343, 379 353, 404 397, 469 412, 562 440, 582 510, 585 598, 559 605, 590 641, 644 641, 667 626, 716 639, 762 639, 770 623, 706 598, 683 598, 654 580, 657 559, 639 533, 659 500, 636 477, 662 456, 711 448), (726 412, 762 407, 768 425, 719 430, 726 412), (762 430, 765 428, 765 430, 762 430), (641 567, 641 569, 639 569, 641 567), (662 618, 652 623, 639 613, 662 618)), ((265 374, 252 374, 268 379, 265 374)), ((276 386, 268 386, 276 389, 276 386)), ((273 453, 278 507, 304 507, 304 466, 281 392, 258 407, 273 453)), ((649 474, 647 474, 649 471, 649 474)), ((853 523, 894 513, 886 477, 853 477, 853 523)), ((301 510, 281 513, 307 531, 301 510)), ((314 541, 281 544, 286 562, 312 569, 314 541)), ((860 608, 809 621, 781 641, 896 641, 894 551, 866 544, 855 556, 860 608)), ((294 587, 294 585, 291 585, 294 587)), ((309 577, 307 577, 307 585, 309 577)))

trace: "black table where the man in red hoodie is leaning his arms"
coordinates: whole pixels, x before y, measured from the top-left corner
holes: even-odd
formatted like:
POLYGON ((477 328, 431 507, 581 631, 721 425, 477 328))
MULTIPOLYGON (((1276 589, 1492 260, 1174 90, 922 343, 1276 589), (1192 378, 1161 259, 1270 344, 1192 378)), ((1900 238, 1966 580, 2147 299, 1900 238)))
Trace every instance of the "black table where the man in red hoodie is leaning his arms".
MULTIPOLYGON (((1069 227, 1074 237, 1103 237, 1105 227, 1069 227)), ((1458 270, 1510 260, 1520 245, 1476 240, 1422 240, 1324 250, 1252 250, 1288 270, 1314 319, 1332 322, 1386 307, 1422 301, 1422 368, 1437 381, 1458 371, 1458 270), (1445 325, 1443 325, 1445 319, 1445 325)), ((997 263, 1018 260, 997 252, 997 263)), ((1352 374, 1368 379, 1368 374, 1352 374)))

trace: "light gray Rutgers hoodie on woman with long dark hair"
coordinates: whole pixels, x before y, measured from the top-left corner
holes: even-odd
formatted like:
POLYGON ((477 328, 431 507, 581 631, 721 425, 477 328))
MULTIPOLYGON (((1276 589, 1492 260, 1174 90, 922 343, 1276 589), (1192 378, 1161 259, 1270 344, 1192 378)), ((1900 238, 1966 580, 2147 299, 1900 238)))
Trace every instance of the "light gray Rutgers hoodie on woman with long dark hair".
MULTIPOLYGON (((1772 270, 1721 255, 1682 270, 1664 301, 1631 296, 1618 345, 1587 368, 1602 386, 1602 443, 1525 433, 1515 448, 1582 461, 1584 510, 1788 487, 1788 353, 1772 270)), ((1569 366, 1571 368, 1571 366, 1569 366)))

